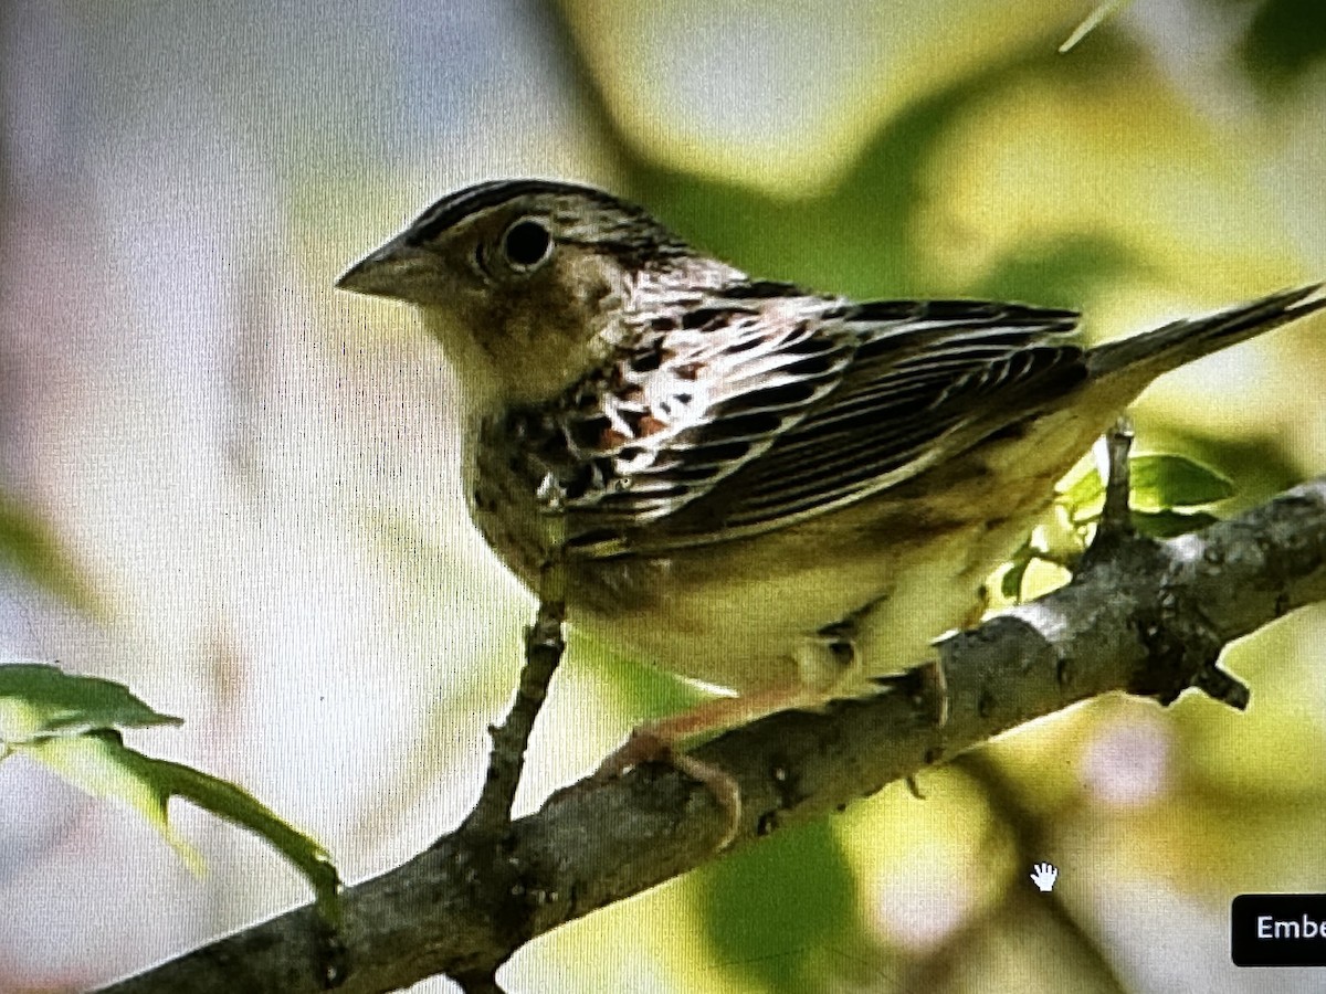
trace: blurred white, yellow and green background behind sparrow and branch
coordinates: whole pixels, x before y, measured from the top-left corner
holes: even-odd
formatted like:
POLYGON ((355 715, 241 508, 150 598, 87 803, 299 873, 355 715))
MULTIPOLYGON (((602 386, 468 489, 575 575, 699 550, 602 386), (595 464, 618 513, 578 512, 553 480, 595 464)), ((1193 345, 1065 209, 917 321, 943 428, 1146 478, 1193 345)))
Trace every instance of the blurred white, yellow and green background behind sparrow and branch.
MULTIPOLYGON (((0 653, 130 684, 349 880, 455 826, 532 611, 459 500, 451 374, 335 276, 465 183, 586 180, 766 277, 1086 310, 1111 337, 1326 277, 1326 8, 1135 0, 0 5, 0 653)), ((1326 472, 1322 321, 1167 378, 1143 449, 1326 472)), ((513 991, 1321 990, 1229 900, 1326 889, 1326 614, 1245 714, 1111 697, 548 936, 513 991), (1059 867, 1053 895, 1028 880, 1059 867)), ((573 643, 532 810, 692 693, 573 643)), ((0 991, 308 899, 261 843, 0 763, 0 991)), ((420 990, 452 990, 432 981, 420 990)))

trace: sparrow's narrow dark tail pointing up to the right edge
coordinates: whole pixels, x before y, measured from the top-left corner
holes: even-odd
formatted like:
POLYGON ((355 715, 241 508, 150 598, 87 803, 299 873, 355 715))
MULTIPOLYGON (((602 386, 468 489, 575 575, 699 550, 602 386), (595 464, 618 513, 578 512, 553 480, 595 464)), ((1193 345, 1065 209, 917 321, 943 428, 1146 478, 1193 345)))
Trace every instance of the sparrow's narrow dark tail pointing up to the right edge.
POLYGON ((1326 297, 1307 300, 1321 288, 1322 284, 1314 284, 1281 290, 1205 318, 1175 321, 1132 338, 1106 342, 1087 353, 1091 378, 1127 370, 1126 382, 1135 376, 1140 388, 1162 372, 1322 310, 1326 297))

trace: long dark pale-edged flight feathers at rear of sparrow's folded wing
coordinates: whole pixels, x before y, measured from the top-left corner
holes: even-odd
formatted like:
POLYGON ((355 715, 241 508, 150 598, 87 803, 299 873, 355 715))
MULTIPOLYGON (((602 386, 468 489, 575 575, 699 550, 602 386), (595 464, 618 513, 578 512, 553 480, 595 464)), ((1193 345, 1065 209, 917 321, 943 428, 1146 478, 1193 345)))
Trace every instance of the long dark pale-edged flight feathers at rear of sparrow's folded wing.
POLYGON ((1022 420, 1086 379, 1077 317, 971 301, 863 306, 845 321, 859 343, 842 383, 724 485, 724 527, 814 517, 1022 420))

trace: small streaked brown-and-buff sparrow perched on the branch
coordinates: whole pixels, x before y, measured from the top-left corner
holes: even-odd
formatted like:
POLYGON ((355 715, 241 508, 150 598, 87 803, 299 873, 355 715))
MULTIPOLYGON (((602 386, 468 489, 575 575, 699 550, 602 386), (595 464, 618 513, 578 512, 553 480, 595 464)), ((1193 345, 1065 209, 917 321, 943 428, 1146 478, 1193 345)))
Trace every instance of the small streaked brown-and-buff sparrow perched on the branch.
POLYGON ((601 773, 879 692, 979 618, 1156 376, 1326 306, 1301 286, 1089 347, 1073 310, 752 278, 542 179, 444 196, 337 285, 415 305, 453 363, 467 502, 505 566, 537 594, 560 563, 573 627, 728 692, 601 773))

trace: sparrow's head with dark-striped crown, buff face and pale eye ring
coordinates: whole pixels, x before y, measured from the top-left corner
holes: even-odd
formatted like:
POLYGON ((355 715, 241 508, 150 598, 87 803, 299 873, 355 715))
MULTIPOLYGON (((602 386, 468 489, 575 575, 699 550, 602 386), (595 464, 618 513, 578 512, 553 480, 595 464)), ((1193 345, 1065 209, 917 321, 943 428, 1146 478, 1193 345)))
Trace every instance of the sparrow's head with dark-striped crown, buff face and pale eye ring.
POLYGON ((337 286, 419 306, 477 399, 534 403, 611 355, 643 285, 697 262, 598 190, 497 180, 443 197, 337 286))

